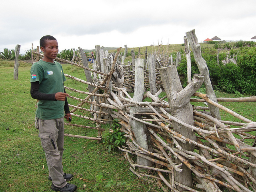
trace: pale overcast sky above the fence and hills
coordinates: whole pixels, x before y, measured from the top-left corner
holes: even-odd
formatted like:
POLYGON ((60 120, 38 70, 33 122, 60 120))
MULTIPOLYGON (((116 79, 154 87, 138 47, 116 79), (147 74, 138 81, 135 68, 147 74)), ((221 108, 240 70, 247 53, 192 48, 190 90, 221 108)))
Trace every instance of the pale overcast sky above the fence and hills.
POLYGON ((0 52, 39 46, 44 35, 60 50, 184 43, 195 29, 198 42, 256 36, 255 0, 3 0, 0 52))

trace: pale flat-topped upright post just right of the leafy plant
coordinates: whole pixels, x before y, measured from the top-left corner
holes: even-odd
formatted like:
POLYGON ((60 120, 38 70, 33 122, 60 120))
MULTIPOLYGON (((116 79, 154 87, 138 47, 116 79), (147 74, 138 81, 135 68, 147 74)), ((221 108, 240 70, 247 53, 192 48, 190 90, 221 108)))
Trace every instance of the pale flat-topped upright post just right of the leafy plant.
MULTIPOLYGON (((136 59, 135 60, 135 86, 134 86, 134 96, 133 100, 142 102, 143 94, 144 94, 144 59, 136 59)), ((136 112, 137 106, 132 106, 130 109, 130 115, 134 115, 136 112)), ((146 125, 142 122, 138 122, 132 118, 129 120, 135 134, 135 138, 137 143, 144 149, 148 150, 148 139, 146 135, 146 125)), ((140 156, 137 156, 137 164, 144 166, 152 166, 152 162, 150 160, 144 159, 140 156)))

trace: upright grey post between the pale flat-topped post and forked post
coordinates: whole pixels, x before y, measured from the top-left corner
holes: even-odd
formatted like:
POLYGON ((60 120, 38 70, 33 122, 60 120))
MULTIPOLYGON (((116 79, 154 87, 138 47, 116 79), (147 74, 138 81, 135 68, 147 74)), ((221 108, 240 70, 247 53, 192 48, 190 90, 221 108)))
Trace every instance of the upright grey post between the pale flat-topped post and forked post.
POLYGON ((148 55, 148 77, 149 77, 149 86, 150 92, 152 95, 156 94, 156 67, 155 67, 155 55, 148 55))

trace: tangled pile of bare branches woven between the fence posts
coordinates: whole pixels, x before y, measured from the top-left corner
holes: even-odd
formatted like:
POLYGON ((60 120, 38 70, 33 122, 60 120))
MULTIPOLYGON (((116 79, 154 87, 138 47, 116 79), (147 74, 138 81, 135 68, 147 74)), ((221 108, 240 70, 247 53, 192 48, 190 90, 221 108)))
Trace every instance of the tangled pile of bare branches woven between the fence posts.
MULTIPOLYGON (((131 71, 131 67, 128 68, 124 64, 121 64, 119 52, 120 49, 118 49, 117 54, 104 53, 104 59, 102 61, 106 69, 108 69, 106 70, 108 73, 104 75, 97 70, 97 67, 99 68, 97 64, 99 63, 96 64, 96 62, 94 62, 94 70, 91 70, 75 62, 58 58, 57 60, 90 70, 94 74, 94 77, 97 77, 94 78, 94 82, 84 81, 84 83, 94 86, 94 90, 87 93, 85 99, 73 98, 79 100, 81 103, 78 106, 70 107, 74 108, 72 110, 73 112, 75 110, 88 110, 82 108, 82 105, 84 103, 90 103, 93 106, 90 112, 98 115, 94 115, 93 118, 85 116, 82 118, 94 121, 96 123, 96 128, 94 129, 98 129, 99 133, 103 130, 100 128, 100 124, 106 123, 99 120, 101 116, 107 118, 106 115, 111 115, 112 118, 118 118, 120 120, 122 131, 126 133, 127 140, 126 145, 119 147, 119 149, 124 152, 124 156, 130 163, 130 170, 144 180, 148 180, 148 178, 156 179, 163 191, 168 190, 166 186, 169 190, 171 189, 175 192, 179 191, 177 189, 178 187, 193 192, 221 191, 224 188, 237 192, 256 191, 256 148, 254 147, 256 137, 252 132, 256 130, 256 122, 252 122, 232 112, 210 100, 207 95, 200 93, 195 93, 195 95, 202 99, 191 99, 190 101, 210 102, 221 110, 225 110, 236 116, 244 121, 244 123, 218 120, 210 115, 208 107, 193 106, 194 125, 188 125, 170 114, 166 96, 159 97, 162 92, 161 89, 154 95, 146 92, 143 102, 134 101, 126 91, 126 87, 117 86, 115 82, 118 78, 125 79, 126 77, 122 77, 122 75, 127 74, 128 70, 131 71), (114 74, 115 72, 116 74, 114 74), (110 81, 110 78, 112 78, 112 81, 110 81), (99 94, 97 92, 99 89, 104 90, 104 93, 99 94), (94 98, 93 101, 89 101, 91 97, 94 98), (100 98, 98 99, 98 103, 95 102, 97 100, 96 98, 100 98), (131 106, 137 107, 135 114, 140 115, 140 118, 130 115, 131 106), (129 123, 130 119, 142 122, 145 125, 146 132, 150 136, 148 140, 150 150, 139 146, 134 136, 134 130, 129 123), (190 140, 183 136, 182 133, 175 132, 172 129, 172 122, 177 122, 193 130, 196 134, 196 140, 190 140), (230 126, 233 128, 230 128, 230 126), (248 140, 254 142, 254 144, 252 146, 246 144, 248 140), (194 151, 184 150, 179 145, 179 142, 194 145, 194 151), (145 158, 152 162, 153 166, 136 164, 132 160, 132 156, 145 158), (179 159, 182 163, 176 164, 176 159, 179 159), (193 173, 193 188, 184 186, 174 179, 174 172, 180 172, 182 165, 187 166, 193 173), (140 172, 136 168, 146 169, 148 172, 140 172)), ((35 51, 33 53, 40 55, 35 51)), ((80 79, 72 76, 66 76, 82 82, 80 79)), ((123 84, 125 85, 125 82, 123 84)), ((68 89, 79 92, 79 90, 72 88, 68 89)), ((250 97, 247 101, 255 101, 255 97, 250 97)), ((223 100, 227 101, 228 99, 218 98, 219 102, 223 100)), ((230 99, 230 102, 232 101, 234 100, 230 99)), ((72 115, 76 116, 74 113, 72 115)), ((109 118, 111 117, 109 116, 109 118)), ((92 128, 88 126, 83 127, 92 128)), ((99 134, 98 140, 100 136, 99 134)))

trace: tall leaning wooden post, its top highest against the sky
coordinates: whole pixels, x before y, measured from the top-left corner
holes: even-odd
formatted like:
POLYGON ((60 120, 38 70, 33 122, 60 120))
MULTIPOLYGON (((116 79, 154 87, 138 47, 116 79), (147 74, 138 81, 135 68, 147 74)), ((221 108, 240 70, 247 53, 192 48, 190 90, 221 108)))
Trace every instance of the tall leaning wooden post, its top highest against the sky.
MULTIPOLYGON (((212 88, 209 70, 206 65, 206 61, 204 60, 204 58, 202 58, 201 46, 198 43, 195 30, 193 29, 189 32, 186 32, 186 36, 188 38, 188 42, 191 45, 192 51, 194 53, 194 58, 196 60, 198 69, 199 69, 200 73, 204 76, 204 85, 206 88, 206 93, 209 95, 209 98, 211 100, 213 100, 214 102, 217 102, 216 95, 212 88)), ((209 107, 209 110, 210 110, 212 116, 214 118, 221 120, 219 108, 213 106, 212 104, 208 104, 208 107, 209 107)))

